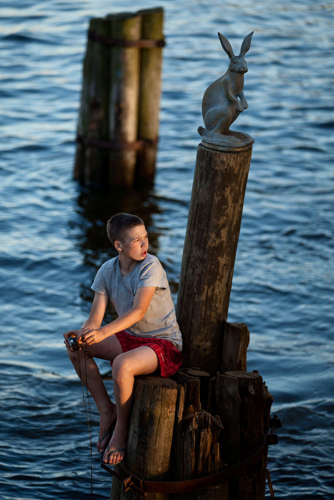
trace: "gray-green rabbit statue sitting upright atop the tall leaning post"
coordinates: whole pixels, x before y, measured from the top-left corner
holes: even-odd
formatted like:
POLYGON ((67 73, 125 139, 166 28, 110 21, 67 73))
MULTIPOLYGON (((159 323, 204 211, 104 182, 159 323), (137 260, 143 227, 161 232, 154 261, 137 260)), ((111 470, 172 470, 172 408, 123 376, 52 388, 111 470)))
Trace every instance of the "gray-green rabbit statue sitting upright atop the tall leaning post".
POLYGON ((254 142, 250 135, 230 130, 231 123, 248 107, 243 94, 243 75, 248 71, 244 55, 249 50, 253 32, 245 36, 239 55, 234 55, 228 39, 218 33, 230 64, 226 73, 211 83, 204 92, 202 113, 206 128, 198 127, 202 142, 222 146, 243 146, 254 142))

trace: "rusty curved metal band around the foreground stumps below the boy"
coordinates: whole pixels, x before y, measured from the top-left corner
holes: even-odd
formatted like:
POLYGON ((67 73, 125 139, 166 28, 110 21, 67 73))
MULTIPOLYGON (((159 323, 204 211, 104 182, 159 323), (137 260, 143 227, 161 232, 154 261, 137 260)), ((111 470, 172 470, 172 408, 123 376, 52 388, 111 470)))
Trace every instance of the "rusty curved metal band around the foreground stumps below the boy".
POLYGON ((101 463, 101 467, 107 470, 110 474, 114 475, 121 481, 123 481, 126 490, 129 488, 134 488, 142 494, 146 492, 150 493, 185 493, 187 491, 195 491, 197 489, 205 489, 212 486, 216 486, 221 482, 227 481, 232 477, 236 477, 243 471, 255 465, 257 462, 263 458, 268 450, 268 445, 264 440, 262 446, 251 455, 246 460, 243 460, 236 465, 227 467, 220 472, 211 474, 205 477, 199 477, 197 479, 187 479, 185 481, 146 481, 141 477, 138 477, 123 465, 120 467, 120 472, 118 473, 113 469, 109 468, 105 463, 101 463))

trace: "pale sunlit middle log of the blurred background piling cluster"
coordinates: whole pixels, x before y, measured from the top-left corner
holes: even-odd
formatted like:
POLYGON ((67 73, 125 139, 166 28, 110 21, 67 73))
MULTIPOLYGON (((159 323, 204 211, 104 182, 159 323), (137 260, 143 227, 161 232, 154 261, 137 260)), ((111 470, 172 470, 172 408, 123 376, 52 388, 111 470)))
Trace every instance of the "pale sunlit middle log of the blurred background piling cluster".
MULTIPOLYGON (((119 40, 141 38, 141 16, 121 13, 108 16, 110 36, 119 40)), ((111 47, 109 140, 119 149, 109 153, 109 184, 131 186, 135 179, 137 151, 131 143, 137 139, 140 49, 138 46, 111 47)))

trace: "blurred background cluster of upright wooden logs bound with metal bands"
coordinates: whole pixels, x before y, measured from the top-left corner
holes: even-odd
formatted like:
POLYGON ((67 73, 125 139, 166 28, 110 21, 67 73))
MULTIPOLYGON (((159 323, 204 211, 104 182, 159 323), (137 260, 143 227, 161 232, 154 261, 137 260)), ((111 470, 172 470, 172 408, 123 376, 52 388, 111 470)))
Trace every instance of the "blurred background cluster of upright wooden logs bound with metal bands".
POLYGON ((74 168, 82 184, 152 182, 162 46, 161 7, 91 19, 74 168))

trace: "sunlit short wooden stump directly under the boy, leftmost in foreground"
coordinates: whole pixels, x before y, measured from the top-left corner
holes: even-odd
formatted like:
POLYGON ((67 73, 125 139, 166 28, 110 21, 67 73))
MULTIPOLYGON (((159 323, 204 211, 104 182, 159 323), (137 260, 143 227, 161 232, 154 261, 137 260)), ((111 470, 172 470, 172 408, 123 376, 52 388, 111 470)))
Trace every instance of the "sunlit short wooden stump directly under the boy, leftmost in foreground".
MULTIPOLYGON (((171 480, 169 462, 178 388, 170 378, 138 377, 125 466, 137 476, 156 481, 171 480)), ((119 467, 118 465, 116 467, 119 467)), ((135 490, 123 491, 113 479, 111 500, 135 500, 135 490)), ((168 494, 148 493, 146 500, 167 500, 168 494)))

